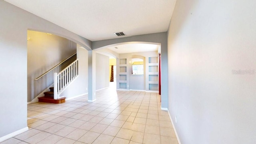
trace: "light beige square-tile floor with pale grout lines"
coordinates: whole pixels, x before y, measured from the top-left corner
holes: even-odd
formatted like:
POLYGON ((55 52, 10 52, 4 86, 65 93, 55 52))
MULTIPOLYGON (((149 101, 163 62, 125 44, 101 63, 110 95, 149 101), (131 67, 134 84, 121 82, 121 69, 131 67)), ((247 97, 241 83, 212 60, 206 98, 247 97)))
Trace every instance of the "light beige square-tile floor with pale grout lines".
POLYGON ((28 104, 29 130, 0 144, 178 144, 153 92, 111 88, 63 104, 28 104))

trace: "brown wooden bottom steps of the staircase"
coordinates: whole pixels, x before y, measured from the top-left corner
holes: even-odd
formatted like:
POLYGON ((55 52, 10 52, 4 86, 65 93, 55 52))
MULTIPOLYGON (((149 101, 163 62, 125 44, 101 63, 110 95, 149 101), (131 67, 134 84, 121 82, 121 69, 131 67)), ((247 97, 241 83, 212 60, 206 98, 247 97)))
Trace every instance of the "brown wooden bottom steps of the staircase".
POLYGON ((50 92, 44 92, 44 96, 38 98, 38 102, 47 102, 52 104, 62 104, 65 102, 65 97, 54 99, 54 87, 50 88, 50 92))

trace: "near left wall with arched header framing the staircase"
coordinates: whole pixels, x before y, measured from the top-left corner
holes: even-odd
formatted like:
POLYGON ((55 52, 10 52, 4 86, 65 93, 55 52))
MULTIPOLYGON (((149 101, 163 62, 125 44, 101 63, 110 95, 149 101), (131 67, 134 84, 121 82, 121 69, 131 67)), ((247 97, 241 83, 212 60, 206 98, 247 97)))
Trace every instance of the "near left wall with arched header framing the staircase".
POLYGON ((91 48, 89 40, 0 0, 0 140, 27 127, 28 29, 50 32, 91 48))

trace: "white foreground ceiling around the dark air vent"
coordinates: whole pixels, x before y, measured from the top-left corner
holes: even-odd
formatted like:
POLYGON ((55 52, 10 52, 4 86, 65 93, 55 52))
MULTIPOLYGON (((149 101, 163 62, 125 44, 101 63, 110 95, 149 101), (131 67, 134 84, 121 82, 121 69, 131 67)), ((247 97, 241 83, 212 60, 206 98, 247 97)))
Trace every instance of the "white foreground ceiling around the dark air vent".
POLYGON ((91 41, 126 37, 118 37, 114 34, 121 31, 127 36, 166 32, 176 2, 176 0, 5 1, 91 41))

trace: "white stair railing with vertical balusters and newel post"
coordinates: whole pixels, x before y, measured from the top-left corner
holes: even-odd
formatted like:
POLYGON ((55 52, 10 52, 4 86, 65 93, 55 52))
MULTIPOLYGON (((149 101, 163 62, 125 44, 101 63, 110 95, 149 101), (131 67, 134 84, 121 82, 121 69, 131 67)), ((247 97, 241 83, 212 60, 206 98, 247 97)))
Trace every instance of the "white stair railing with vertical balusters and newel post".
POLYGON ((68 65, 64 70, 54 73, 54 99, 60 98, 60 94, 67 88, 68 84, 78 76, 78 59, 68 65))

